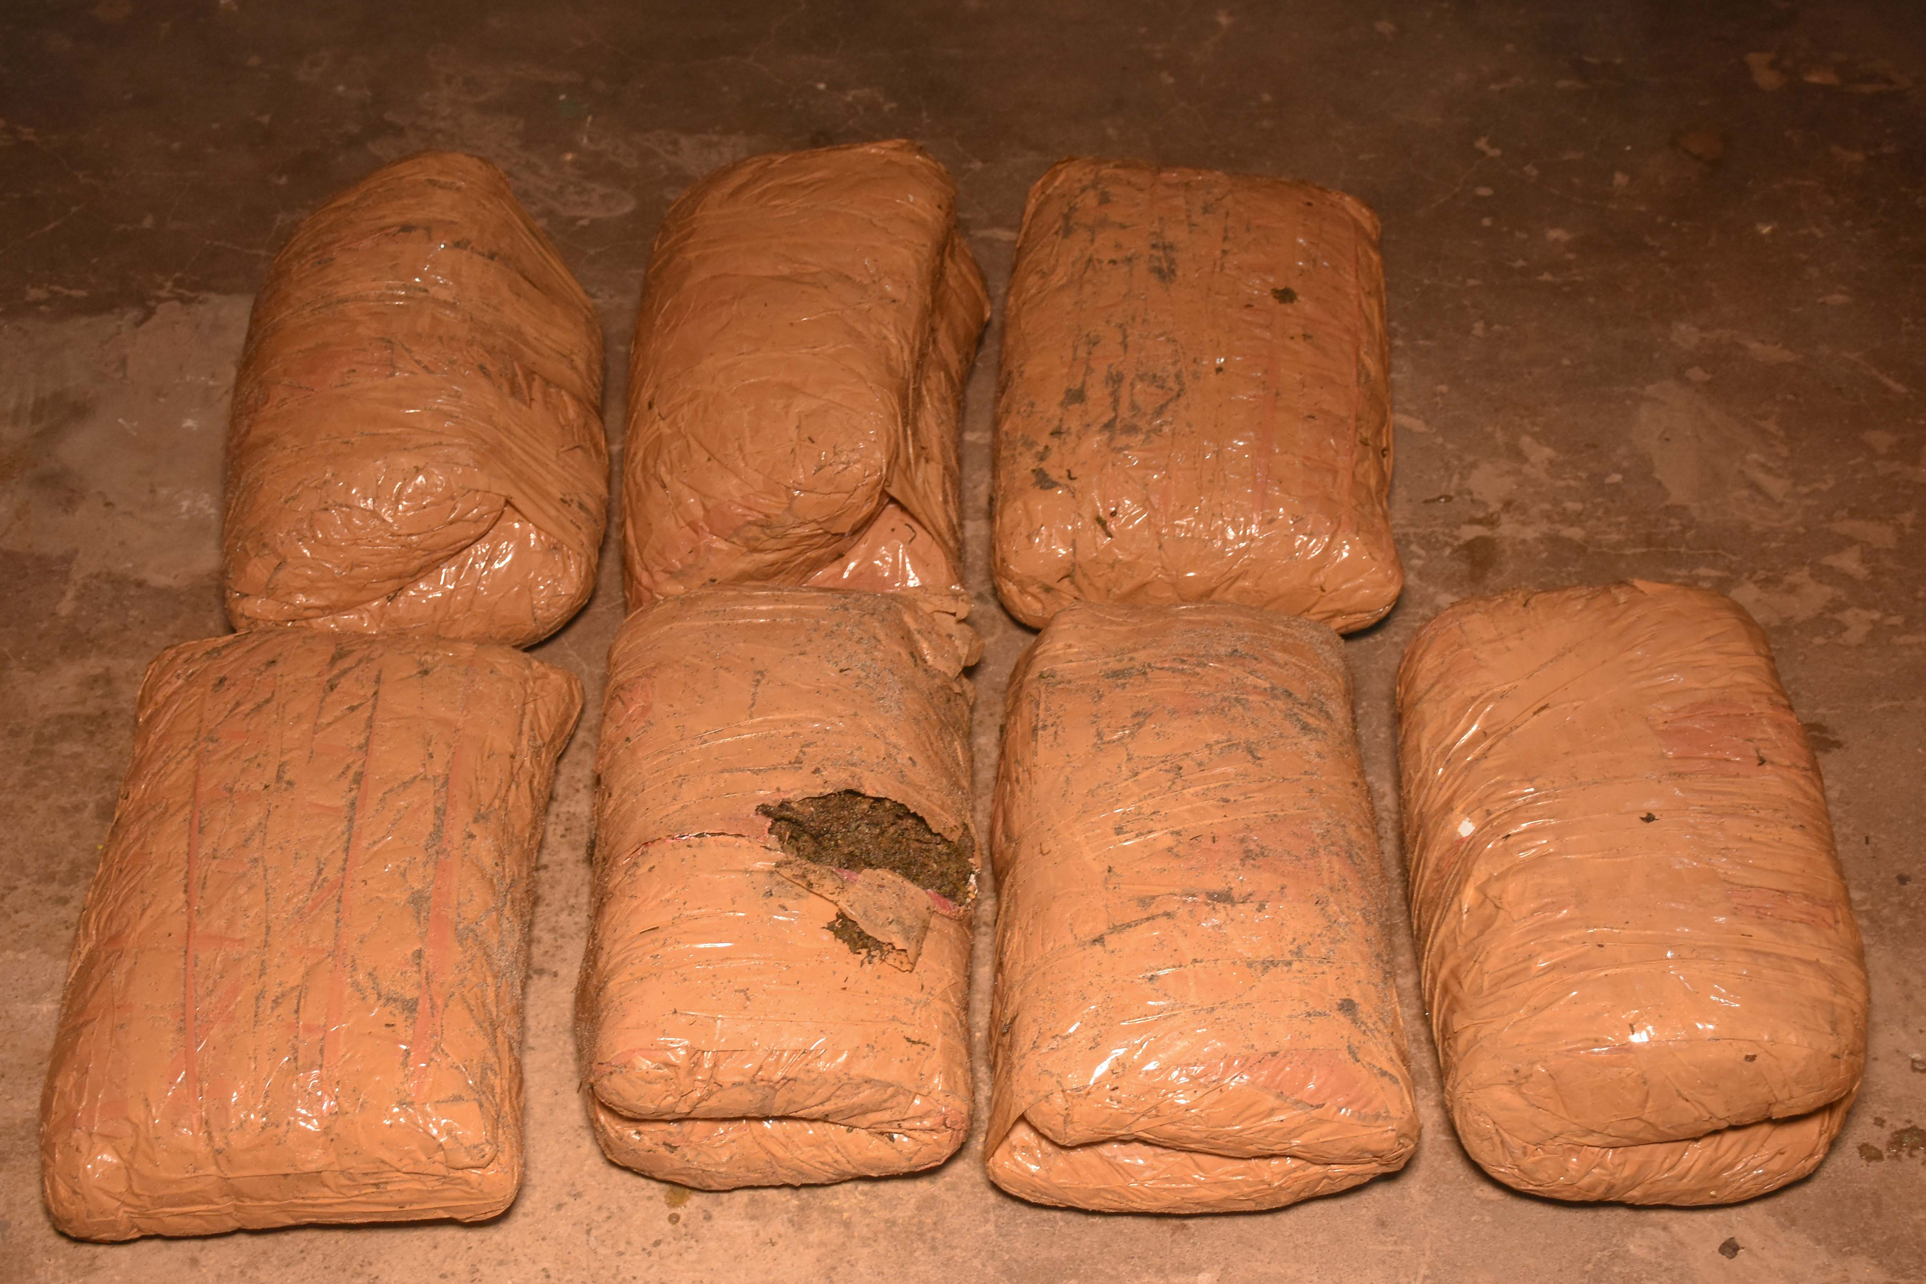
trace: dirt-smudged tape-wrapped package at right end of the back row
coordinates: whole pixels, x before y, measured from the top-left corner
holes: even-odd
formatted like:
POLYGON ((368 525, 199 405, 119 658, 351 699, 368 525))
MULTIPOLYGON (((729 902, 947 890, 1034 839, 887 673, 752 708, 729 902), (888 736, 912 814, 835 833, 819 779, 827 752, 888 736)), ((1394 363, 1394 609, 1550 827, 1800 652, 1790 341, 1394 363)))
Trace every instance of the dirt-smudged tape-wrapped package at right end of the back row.
POLYGON ((1391 366, 1377 218, 1285 179, 1065 160, 1030 189, 996 402, 996 587, 1379 620, 1391 366))

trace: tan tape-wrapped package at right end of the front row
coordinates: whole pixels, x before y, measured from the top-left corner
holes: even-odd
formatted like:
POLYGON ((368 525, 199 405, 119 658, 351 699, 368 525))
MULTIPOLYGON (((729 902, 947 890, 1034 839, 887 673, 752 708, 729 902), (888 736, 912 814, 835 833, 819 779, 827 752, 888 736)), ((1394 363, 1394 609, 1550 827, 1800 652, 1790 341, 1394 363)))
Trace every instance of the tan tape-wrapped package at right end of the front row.
POLYGON ((1460 603, 1398 674, 1412 918, 1466 1151, 1556 1199, 1805 1176, 1866 1055, 1818 764, 1745 610, 1614 583, 1460 603))

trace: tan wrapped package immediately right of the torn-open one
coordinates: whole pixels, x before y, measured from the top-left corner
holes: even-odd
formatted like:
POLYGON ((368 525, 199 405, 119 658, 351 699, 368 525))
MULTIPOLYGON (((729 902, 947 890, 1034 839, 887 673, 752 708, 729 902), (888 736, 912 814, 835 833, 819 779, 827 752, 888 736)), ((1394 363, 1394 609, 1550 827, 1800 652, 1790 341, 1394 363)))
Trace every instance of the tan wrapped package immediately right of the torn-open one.
POLYGON ((1273 1209, 1418 1143, 1342 643, 1252 606, 1071 604, 1009 683, 992 1180, 1273 1209))

